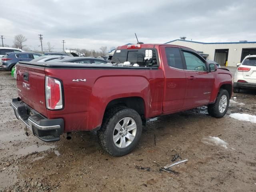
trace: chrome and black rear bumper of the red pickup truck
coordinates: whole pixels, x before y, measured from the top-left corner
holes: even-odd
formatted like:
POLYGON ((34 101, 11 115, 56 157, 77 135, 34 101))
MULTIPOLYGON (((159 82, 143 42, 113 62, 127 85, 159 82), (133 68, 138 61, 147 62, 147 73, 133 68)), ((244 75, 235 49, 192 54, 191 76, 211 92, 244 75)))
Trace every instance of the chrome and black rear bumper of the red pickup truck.
POLYGON ((63 119, 45 118, 22 102, 20 98, 12 99, 12 108, 16 118, 28 126, 33 134, 42 141, 55 142, 60 140, 60 135, 64 132, 63 119))

